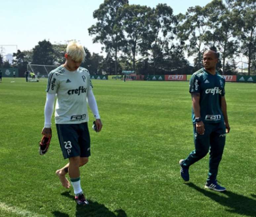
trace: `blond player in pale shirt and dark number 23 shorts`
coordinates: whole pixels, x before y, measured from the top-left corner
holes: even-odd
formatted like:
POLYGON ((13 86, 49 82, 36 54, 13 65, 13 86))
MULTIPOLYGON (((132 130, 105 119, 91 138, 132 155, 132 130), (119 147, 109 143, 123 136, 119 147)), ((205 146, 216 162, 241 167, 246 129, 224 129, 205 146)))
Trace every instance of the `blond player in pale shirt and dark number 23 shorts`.
POLYGON ((74 189, 77 204, 88 204, 80 185, 79 167, 88 162, 90 156, 90 135, 88 130, 87 104, 94 114, 96 131, 100 132, 102 123, 97 103, 92 91, 90 74, 80 67, 85 58, 84 48, 75 41, 67 45, 64 65, 51 71, 48 76, 47 98, 45 103, 45 125, 42 135, 50 137, 51 116, 55 105, 55 124, 64 159, 69 160, 63 168, 56 171, 62 185, 70 187, 65 177, 68 173, 74 189))

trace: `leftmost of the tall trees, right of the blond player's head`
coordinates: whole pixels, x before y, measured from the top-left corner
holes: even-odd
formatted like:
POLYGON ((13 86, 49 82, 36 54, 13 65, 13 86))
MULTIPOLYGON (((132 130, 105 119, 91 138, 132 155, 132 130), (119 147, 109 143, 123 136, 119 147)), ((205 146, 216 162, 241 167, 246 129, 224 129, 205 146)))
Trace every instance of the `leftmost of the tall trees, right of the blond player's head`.
POLYGON ((117 74, 117 54, 123 44, 123 31, 118 16, 118 9, 128 4, 128 0, 104 0, 99 9, 93 12, 93 18, 97 23, 88 31, 94 35, 93 43, 99 42, 106 53, 111 53, 115 58, 115 74, 117 74))

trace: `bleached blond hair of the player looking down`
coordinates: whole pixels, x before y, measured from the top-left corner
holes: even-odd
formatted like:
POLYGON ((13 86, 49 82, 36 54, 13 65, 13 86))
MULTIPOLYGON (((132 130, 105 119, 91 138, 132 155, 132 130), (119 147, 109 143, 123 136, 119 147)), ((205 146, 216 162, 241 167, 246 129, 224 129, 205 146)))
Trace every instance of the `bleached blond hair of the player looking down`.
POLYGON ((66 49, 67 55, 69 55, 72 60, 76 62, 84 62, 85 51, 82 45, 76 41, 70 41, 66 49))

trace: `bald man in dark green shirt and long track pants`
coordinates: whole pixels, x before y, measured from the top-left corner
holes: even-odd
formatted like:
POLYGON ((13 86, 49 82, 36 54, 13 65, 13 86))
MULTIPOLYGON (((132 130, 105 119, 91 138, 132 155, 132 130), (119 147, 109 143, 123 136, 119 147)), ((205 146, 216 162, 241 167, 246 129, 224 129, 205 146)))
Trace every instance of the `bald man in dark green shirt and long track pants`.
POLYGON ((213 50, 206 50, 203 54, 204 68, 195 72, 190 79, 195 150, 185 160, 181 159, 179 164, 181 177, 189 181, 189 167, 210 150, 209 172, 204 187, 225 191, 226 188, 217 182, 217 173, 230 126, 225 99, 225 79, 216 71, 217 63, 218 54, 213 50))

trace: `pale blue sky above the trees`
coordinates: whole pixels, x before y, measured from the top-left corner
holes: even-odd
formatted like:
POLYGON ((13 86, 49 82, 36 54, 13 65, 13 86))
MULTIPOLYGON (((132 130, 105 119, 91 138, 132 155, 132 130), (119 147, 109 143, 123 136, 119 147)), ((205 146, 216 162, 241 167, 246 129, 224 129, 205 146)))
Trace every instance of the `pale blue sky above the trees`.
MULTIPOLYGON (((93 44, 88 28, 95 24, 93 11, 104 0, 0 0, 0 45, 17 45, 29 50, 44 39, 51 43, 80 41, 90 52, 99 53, 100 44, 93 44)), ((155 7, 159 3, 171 6, 174 14, 186 13, 189 7, 205 6, 211 0, 129 0, 130 4, 155 7)), ((16 47, 4 46, 4 52, 16 52, 16 47)), ((1 47, 0 47, 1 51, 1 47)))

